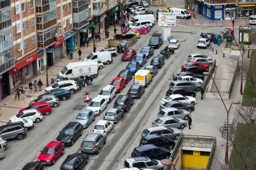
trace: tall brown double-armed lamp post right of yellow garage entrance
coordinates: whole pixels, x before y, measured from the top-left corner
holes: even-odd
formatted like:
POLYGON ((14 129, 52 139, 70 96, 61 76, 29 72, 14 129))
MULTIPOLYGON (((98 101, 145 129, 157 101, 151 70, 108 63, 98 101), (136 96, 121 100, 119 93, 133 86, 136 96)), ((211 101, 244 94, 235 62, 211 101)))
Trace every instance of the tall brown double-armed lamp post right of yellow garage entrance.
MULTIPOLYGON (((205 76, 211 76, 211 74, 210 74, 209 72, 203 72, 203 75, 205 75, 205 76)), ((228 115, 229 115, 229 111, 230 111, 232 105, 233 105, 233 104, 238 105, 238 104, 240 104, 240 102, 239 102, 238 100, 234 100, 234 101, 231 103, 229 109, 227 110, 227 107, 226 107, 226 105, 225 105, 225 103, 224 103, 224 101, 223 101, 223 99, 222 99, 222 97, 221 97, 220 91, 218 90, 218 87, 216 86, 216 83, 215 83, 215 81, 214 81, 214 79, 213 79, 212 76, 211 76, 211 79, 213 80, 213 83, 214 83, 214 85, 215 85, 215 87, 216 87, 216 89, 217 89, 217 91, 218 91, 218 94, 220 95, 221 101, 223 102, 223 105, 224 105, 224 107, 225 107, 225 109, 226 109, 226 113, 227 113, 227 122, 226 122, 226 126, 227 126, 227 137, 226 137, 225 163, 228 164, 228 131, 229 131, 228 115)))

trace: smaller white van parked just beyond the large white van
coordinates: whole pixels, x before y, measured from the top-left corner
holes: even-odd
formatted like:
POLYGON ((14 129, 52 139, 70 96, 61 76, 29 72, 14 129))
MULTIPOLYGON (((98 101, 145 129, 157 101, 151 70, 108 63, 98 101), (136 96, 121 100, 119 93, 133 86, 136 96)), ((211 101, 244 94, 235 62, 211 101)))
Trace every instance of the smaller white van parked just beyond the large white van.
POLYGON ((91 54, 88 55, 88 57, 85 58, 84 61, 95 60, 95 59, 99 59, 101 60, 101 62, 106 64, 111 64, 113 62, 111 52, 109 51, 92 52, 91 54))

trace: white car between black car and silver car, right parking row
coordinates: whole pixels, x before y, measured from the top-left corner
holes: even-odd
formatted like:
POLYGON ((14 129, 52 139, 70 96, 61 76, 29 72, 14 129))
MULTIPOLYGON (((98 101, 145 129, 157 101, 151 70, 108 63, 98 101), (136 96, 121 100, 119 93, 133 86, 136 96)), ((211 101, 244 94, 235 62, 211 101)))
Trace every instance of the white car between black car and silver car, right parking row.
POLYGON ((189 103, 192 105, 195 105, 197 103, 197 99, 195 99, 195 97, 190 97, 190 96, 183 96, 181 94, 173 94, 173 95, 169 95, 167 97, 164 97, 161 100, 162 105, 164 103, 168 103, 171 101, 179 101, 179 102, 183 102, 183 103, 189 103))

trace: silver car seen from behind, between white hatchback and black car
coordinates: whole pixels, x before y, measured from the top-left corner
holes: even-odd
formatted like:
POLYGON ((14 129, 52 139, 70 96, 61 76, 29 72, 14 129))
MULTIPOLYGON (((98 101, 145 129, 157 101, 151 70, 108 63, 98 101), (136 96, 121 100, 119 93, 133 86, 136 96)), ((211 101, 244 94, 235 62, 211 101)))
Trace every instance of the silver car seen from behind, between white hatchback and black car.
POLYGON ((124 110, 119 108, 109 108, 108 111, 106 111, 103 119, 118 123, 119 119, 121 119, 122 116, 124 116, 124 110))

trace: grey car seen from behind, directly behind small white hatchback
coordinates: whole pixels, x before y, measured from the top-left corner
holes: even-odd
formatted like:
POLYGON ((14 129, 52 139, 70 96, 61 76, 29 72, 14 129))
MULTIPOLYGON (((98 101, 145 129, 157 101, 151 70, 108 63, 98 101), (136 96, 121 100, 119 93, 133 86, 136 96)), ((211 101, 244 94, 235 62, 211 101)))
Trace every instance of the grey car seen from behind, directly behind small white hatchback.
POLYGON ((104 144, 106 144, 106 135, 100 133, 87 134, 81 144, 81 152, 100 154, 104 144))

